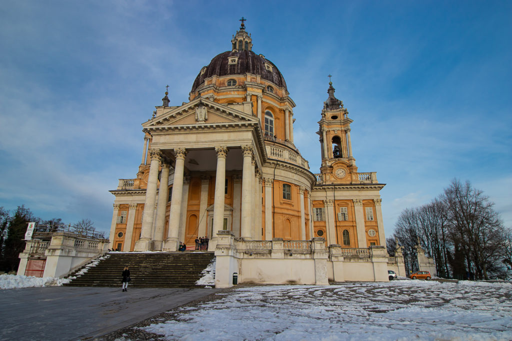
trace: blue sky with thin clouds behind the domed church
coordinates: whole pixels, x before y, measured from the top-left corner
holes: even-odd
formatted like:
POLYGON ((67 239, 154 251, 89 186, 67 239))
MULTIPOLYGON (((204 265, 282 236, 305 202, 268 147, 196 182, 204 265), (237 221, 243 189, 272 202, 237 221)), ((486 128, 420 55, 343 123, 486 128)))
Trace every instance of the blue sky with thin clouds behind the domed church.
POLYGON ((17 1, 0 12, 0 206, 108 231, 140 124, 188 101, 201 67, 247 18, 285 77, 294 138, 319 172, 328 77, 360 172, 377 172, 385 229, 452 178, 512 226, 512 2, 17 1))

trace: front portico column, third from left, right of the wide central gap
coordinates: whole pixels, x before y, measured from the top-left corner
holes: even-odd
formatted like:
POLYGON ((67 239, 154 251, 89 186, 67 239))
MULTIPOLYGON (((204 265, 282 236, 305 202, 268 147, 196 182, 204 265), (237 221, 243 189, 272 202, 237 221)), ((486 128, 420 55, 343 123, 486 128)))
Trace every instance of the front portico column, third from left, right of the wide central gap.
POLYGON ((217 174, 215 177, 214 231, 211 235, 211 239, 217 239, 217 233, 222 230, 225 203, 224 186, 226 185, 227 148, 215 147, 215 151, 217 152, 217 174))

